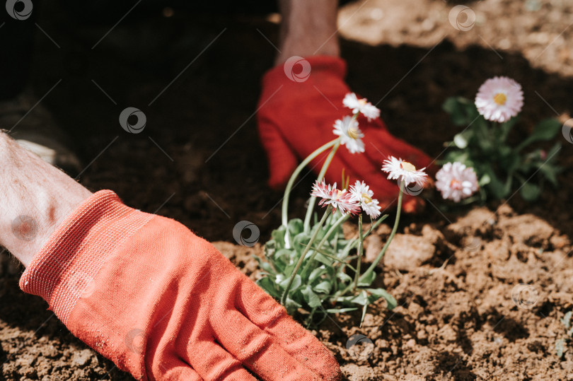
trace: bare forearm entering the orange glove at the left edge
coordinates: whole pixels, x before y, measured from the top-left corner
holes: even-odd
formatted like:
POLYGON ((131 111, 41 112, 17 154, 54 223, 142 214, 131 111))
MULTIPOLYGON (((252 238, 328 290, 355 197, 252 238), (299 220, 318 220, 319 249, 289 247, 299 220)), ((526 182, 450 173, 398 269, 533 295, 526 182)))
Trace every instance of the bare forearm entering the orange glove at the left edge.
POLYGON ((0 245, 28 266, 91 192, 0 131, 0 245))

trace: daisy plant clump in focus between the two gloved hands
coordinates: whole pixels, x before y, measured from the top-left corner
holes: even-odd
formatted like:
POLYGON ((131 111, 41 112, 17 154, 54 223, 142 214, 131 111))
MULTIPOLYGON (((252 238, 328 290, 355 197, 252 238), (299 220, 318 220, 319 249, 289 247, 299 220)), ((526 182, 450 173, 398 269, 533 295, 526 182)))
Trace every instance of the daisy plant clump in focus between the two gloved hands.
MULTIPOLYGON (((380 115, 380 110, 354 93, 348 94, 343 103, 352 110, 352 115, 337 120, 332 131, 336 139, 319 147, 294 170, 284 191, 282 225, 272 232, 272 239, 265 244, 265 259, 259 259, 263 270, 262 278, 257 281, 259 286, 280 300, 289 314, 306 315, 307 324, 324 319, 329 313, 353 310, 361 310, 364 320, 368 305, 380 298, 386 300, 390 309, 396 305, 390 293, 376 288, 373 283, 376 279, 374 270, 398 229, 403 192, 398 195, 392 233, 374 262, 364 269, 364 240, 388 215, 381 216, 381 206, 366 182, 357 180, 349 184, 342 175, 339 187, 336 183, 327 184, 323 178, 340 146, 345 146, 351 153, 364 152, 361 140, 364 134, 359 128, 358 116, 373 119, 380 115), (313 185, 305 218, 289 219, 289 194, 294 181, 311 160, 326 151, 329 151, 328 156, 313 185), (317 200, 318 206, 322 207, 318 213, 315 211, 317 200), (358 223, 354 237, 347 237, 342 232, 342 224, 350 218, 358 223), (369 221, 364 223, 364 218, 369 221)), ((416 171, 412 164, 403 160, 392 160, 395 162, 391 168, 388 163, 382 168, 390 172, 391 179, 423 183, 424 172, 416 171)))

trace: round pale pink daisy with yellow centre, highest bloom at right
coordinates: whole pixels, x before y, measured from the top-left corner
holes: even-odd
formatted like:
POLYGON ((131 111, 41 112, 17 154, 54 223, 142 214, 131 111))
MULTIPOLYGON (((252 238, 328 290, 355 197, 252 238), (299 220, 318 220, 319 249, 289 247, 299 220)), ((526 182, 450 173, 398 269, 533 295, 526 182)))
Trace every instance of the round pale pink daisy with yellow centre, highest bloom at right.
POLYGON ((477 91, 475 107, 487 120, 507 122, 523 107, 521 85, 508 77, 490 78, 477 91))

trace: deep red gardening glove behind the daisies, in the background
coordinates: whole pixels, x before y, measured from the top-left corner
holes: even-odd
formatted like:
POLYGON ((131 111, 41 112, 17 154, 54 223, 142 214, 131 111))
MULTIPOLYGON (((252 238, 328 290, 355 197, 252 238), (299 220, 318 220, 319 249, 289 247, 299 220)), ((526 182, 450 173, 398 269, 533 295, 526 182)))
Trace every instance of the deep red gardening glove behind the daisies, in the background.
MULTIPOLYGON (((296 165, 316 148, 335 139, 332 134, 336 119, 351 115, 352 110, 342 105, 342 99, 350 93, 344 81, 346 63, 339 57, 313 56, 306 59, 310 64, 310 75, 301 72, 299 78, 297 65, 293 70, 284 65, 271 69, 262 79, 262 94, 257 114, 258 128, 262 145, 269 159, 270 180, 273 188, 287 183, 296 165)), ((300 67, 300 65, 298 65, 300 67)), ((381 119, 371 122, 359 117, 359 127, 364 132, 364 153, 349 153, 341 146, 326 172, 330 183, 340 182, 342 169, 350 175, 350 183, 364 180, 374 191, 374 197, 383 208, 398 197, 398 184, 387 180, 381 172, 382 162, 388 156, 403 158, 417 168, 428 167, 432 160, 422 151, 390 135, 381 119)), ((318 156, 310 164, 318 173, 324 156, 318 156)), ((415 211, 422 199, 405 197, 404 211, 415 211)))

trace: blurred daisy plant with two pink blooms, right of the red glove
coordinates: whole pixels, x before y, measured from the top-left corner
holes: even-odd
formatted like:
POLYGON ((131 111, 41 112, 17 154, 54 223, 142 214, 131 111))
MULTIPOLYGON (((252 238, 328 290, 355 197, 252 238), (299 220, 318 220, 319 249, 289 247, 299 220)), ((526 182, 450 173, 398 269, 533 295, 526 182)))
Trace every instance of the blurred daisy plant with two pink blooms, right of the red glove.
POLYGON ((504 76, 485 81, 474 101, 452 97, 444 102, 443 108, 453 124, 463 127, 453 141, 446 143, 451 149, 442 163, 448 166, 436 177, 436 187, 444 199, 454 202, 484 201, 486 197, 503 199, 519 189, 523 199, 533 201, 545 184, 557 186, 557 174, 561 170, 556 164, 560 143, 547 151, 530 146, 552 140, 562 125, 557 119, 542 120, 531 134, 511 144, 508 136, 519 122, 522 107, 521 85, 504 76))

